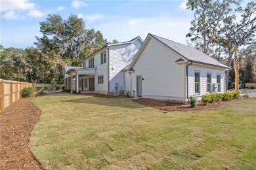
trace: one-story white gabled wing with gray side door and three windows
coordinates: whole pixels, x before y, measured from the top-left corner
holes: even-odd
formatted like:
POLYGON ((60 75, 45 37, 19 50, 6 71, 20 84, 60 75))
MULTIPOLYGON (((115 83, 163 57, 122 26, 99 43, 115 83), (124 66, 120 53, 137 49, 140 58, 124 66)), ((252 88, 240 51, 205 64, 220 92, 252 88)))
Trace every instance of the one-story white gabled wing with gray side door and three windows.
POLYGON ((223 93, 228 69, 196 48, 148 34, 128 72, 135 97, 186 103, 190 95, 223 93))

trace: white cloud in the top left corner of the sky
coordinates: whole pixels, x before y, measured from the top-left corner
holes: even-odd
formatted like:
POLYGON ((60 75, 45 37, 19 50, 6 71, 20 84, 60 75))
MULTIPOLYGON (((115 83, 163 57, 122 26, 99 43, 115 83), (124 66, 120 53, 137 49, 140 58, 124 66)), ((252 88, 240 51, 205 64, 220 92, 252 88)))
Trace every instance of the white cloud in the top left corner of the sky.
POLYGON ((30 3, 29 0, 1 0, 0 11, 7 10, 32 10, 35 7, 35 3, 30 3))

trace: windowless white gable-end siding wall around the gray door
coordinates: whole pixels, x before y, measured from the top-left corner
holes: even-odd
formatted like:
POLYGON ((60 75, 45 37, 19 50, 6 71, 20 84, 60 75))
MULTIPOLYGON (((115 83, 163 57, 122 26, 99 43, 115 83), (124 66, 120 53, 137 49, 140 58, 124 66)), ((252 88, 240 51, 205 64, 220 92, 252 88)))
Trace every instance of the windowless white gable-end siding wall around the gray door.
POLYGON ((185 66, 175 63, 179 58, 177 53, 151 39, 133 67, 132 90, 135 90, 135 96, 137 76, 142 75, 142 97, 184 101, 185 66))

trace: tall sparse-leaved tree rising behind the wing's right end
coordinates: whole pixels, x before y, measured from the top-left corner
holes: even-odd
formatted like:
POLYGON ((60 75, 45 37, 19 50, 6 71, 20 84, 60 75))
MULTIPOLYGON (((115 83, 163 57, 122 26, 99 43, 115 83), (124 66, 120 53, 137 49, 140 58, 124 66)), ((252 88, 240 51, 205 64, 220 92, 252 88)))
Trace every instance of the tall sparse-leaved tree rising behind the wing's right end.
MULTIPOLYGON (((256 13, 256 3, 251 1, 244 9, 240 4, 240 0, 189 0, 187 3, 188 9, 196 10, 187 37, 192 37, 192 41, 202 39, 200 50, 205 54, 208 54, 211 43, 223 46, 228 54, 229 67, 235 46, 240 48, 255 42, 256 17, 253 15, 256 13), (242 18, 240 21, 238 16, 242 18)), ((226 85, 228 76, 229 71, 226 74, 226 85)))

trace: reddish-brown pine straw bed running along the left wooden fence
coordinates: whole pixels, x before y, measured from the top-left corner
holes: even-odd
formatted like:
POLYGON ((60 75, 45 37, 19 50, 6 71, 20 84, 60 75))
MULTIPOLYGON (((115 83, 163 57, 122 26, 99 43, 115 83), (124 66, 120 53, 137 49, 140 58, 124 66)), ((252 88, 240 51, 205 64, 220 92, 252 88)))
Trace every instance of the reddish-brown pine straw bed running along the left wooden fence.
POLYGON ((0 169, 43 169, 29 146, 41 114, 33 97, 19 99, 0 114, 0 169))

